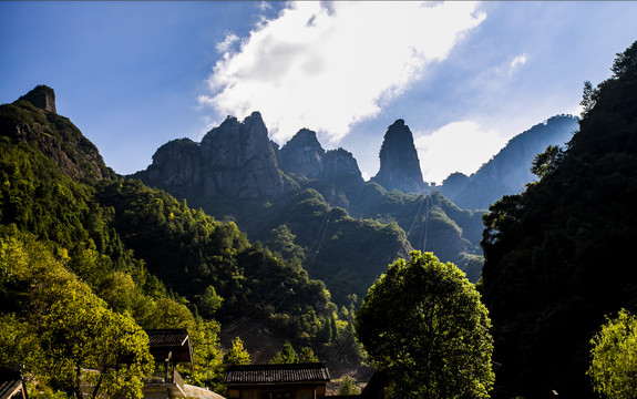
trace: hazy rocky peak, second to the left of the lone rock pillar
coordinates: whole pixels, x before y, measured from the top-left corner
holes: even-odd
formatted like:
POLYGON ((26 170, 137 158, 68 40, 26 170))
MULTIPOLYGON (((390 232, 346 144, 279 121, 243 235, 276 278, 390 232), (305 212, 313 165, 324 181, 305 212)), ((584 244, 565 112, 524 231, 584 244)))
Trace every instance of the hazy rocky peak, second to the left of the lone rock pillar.
POLYGON ((284 172, 300 173, 316 178, 321 175, 321 157, 325 150, 317 140, 316 133, 301 129, 279 151, 280 167, 284 172))

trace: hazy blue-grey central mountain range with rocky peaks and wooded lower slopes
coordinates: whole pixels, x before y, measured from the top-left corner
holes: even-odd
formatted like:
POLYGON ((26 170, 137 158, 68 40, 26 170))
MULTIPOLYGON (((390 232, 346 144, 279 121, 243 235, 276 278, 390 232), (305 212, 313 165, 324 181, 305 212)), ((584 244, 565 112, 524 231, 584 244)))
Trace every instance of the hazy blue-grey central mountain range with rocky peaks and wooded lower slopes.
POLYGON ((236 222, 250 239, 299 260, 310 277, 325 282, 339 306, 349 306, 352 295, 363 296, 389 264, 411 249, 434 252, 476 282, 483 212, 462 211, 439 193, 422 193, 427 185, 403 121, 388 129, 386 140, 381 181, 402 182, 415 193, 364 182, 351 153, 326 152, 307 129, 276 150, 256 112, 243 122, 226 119, 201 143, 166 143, 133 177, 217 219, 236 222), (412 155, 407 165, 397 161, 401 152, 412 155))

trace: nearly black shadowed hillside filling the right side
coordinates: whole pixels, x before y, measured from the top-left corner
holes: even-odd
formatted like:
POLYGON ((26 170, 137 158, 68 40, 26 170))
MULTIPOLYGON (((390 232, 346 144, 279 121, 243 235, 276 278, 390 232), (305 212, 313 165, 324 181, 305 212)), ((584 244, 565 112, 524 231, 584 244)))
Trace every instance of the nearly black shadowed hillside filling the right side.
POLYGON ((497 397, 595 398, 590 339, 605 316, 637 311, 637 42, 612 70, 586 84, 566 151, 536 157, 540 182, 484 217, 497 397))

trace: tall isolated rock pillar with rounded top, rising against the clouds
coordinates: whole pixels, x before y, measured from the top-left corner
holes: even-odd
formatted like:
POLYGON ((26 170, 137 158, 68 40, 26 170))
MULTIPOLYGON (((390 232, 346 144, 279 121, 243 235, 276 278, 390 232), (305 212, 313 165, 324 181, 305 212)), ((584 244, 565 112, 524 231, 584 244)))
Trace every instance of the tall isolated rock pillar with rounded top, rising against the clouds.
POLYGON ((380 170, 371 181, 387 190, 425 191, 413 135, 403 120, 395 121, 387 130, 380 149, 380 170))

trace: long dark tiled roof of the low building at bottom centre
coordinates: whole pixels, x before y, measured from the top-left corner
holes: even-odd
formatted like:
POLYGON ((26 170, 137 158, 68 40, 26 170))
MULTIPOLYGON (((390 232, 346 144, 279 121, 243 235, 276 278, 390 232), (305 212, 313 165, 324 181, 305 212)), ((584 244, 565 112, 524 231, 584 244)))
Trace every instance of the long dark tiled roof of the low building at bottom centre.
POLYGON ((321 362, 230 366, 224 376, 227 386, 297 385, 329 380, 327 366, 321 362))

